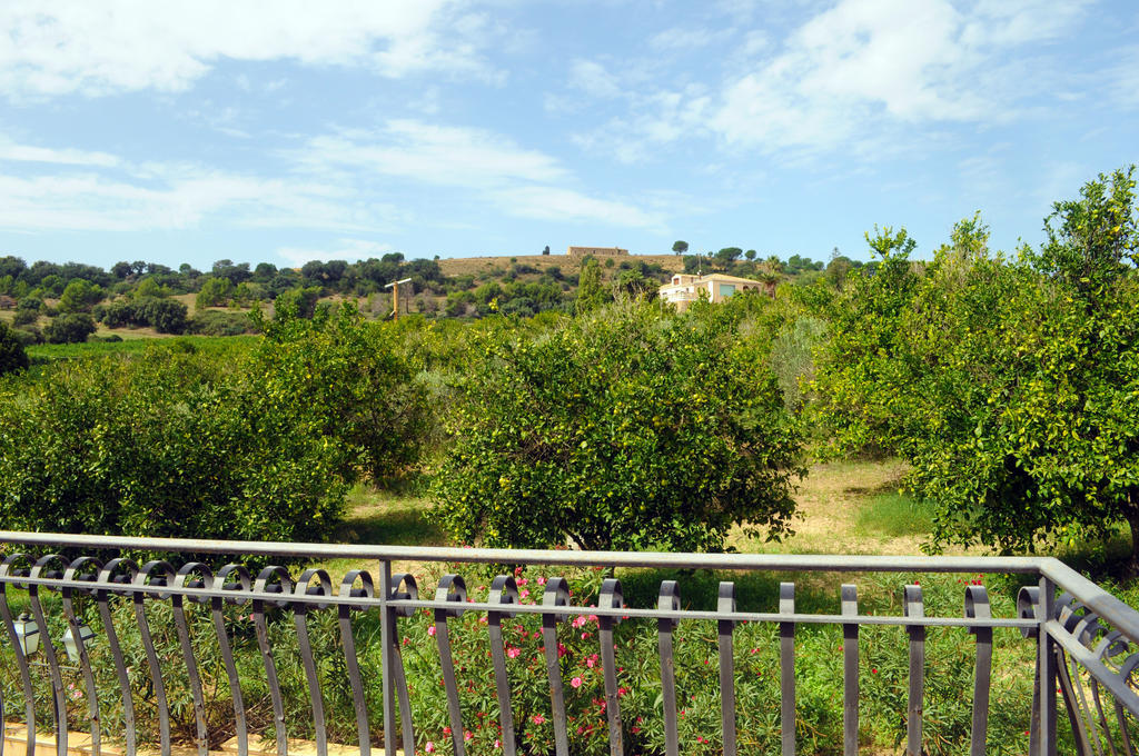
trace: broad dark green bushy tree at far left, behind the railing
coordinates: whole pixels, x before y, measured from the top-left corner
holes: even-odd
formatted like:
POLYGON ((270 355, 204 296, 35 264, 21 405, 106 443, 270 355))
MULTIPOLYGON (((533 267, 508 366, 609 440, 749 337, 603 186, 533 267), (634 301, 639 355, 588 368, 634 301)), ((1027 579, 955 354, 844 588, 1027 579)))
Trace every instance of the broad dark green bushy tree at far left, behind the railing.
POLYGON ((335 450, 207 354, 60 361, 0 393, 0 518, 24 531, 292 541, 344 501, 335 450))

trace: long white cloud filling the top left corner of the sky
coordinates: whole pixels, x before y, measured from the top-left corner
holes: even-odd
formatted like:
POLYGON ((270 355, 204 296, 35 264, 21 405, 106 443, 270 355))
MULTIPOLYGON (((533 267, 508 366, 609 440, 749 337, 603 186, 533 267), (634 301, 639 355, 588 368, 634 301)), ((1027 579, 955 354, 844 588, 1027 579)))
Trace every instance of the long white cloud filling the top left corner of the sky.
POLYGON ((494 75, 452 0, 6 0, 0 92, 180 91, 222 58, 494 75))

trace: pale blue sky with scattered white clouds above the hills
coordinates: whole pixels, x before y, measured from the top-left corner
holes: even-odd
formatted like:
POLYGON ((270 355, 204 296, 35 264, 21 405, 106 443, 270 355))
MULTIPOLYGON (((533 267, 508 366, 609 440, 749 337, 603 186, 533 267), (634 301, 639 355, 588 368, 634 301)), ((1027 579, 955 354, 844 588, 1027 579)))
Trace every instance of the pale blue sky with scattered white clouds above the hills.
POLYGON ((1139 162, 1133 0, 3 0, 0 255, 994 249, 1139 162))

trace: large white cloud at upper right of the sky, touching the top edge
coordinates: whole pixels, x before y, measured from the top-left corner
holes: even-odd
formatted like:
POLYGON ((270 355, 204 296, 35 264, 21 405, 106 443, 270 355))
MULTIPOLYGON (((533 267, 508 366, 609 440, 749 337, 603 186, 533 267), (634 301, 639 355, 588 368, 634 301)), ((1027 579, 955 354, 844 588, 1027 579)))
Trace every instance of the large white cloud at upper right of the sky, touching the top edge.
POLYGON ((918 123, 1009 120, 1023 72, 1005 56, 1052 38, 1082 5, 842 0, 729 77, 710 123, 731 145, 775 153, 835 149, 918 123))

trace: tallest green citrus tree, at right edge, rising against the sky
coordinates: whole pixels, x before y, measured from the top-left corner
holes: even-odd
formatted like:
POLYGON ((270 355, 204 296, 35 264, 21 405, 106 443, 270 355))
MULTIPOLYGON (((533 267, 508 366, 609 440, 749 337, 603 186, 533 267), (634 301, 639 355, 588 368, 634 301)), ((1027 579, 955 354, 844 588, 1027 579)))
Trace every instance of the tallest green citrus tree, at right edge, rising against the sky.
POLYGON ((819 386, 847 450, 904 457, 934 542, 1032 549, 1126 523, 1139 572, 1139 273, 1133 170, 1057 203, 1014 261, 980 217, 921 269, 886 230, 852 276, 819 386), (845 409, 843 408, 845 405, 845 409))

